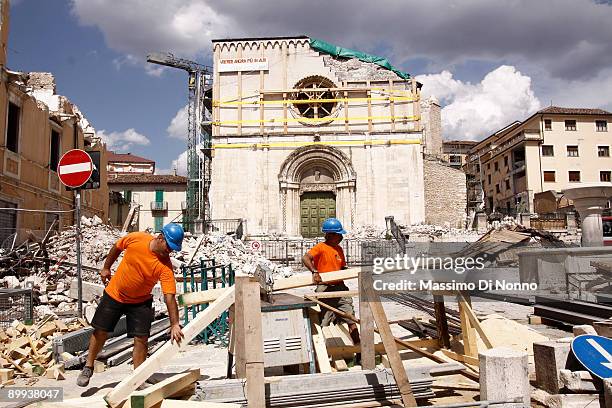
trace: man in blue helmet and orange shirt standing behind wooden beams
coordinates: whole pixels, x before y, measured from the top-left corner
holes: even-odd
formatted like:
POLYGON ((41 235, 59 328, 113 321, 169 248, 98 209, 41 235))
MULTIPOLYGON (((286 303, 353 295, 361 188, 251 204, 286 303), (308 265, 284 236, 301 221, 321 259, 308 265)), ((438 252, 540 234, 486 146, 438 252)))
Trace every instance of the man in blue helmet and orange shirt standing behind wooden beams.
MULTIPOLYGON (((312 272, 312 281, 317 285, 315 292, 341 292, 349 290, 344 281, 334 281, 322 283, 321 275, 326 272, 339 271, 346 269, 346 259, 344 251, 340 246, 342 234, 346 234, 342 223, 336 218, 328 218, 323 221, 321 231, 325 233, 325 242, 318 243, 302 257, 304 266, 312 272)), ((350 296, 341 298, 321 299, 321 302, 330 305, 346 314, 355 315, 353 308, 353 298, 350 296)), ((334 312, 326 310, 321 321, 322 326, 329 326, 335 321, 337 316, 334 312)), ((348 323, 349 333, 354 344, 360 343, 359 330, 354 322, 341 318, 348 323)), ((359 361, 359 354, 356 360, 359 361)))

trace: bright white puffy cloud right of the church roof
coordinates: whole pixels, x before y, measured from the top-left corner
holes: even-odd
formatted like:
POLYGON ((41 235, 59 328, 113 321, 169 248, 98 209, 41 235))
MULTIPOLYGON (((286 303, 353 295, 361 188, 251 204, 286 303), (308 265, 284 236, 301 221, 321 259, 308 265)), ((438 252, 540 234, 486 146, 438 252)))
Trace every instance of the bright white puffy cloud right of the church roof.
POLYGON ((512 66, 498 67, 478 84, 458 81, 448 71, 417 80, 423 83, 424 97, 441 99, 442 131, 449 139, 483 139, 540 107, 531 78, 512 66))

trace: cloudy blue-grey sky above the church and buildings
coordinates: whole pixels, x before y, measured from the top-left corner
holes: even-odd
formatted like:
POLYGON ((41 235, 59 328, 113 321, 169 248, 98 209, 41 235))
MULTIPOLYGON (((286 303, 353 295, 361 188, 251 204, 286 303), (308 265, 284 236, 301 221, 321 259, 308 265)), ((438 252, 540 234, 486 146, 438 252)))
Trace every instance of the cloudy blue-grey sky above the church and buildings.
POLYGON ((314 38, 388 58, 481 140, 551 103, 612 111, 612 5, 593 0, 11 0, 8 67, 48 71, 109 149, 185 167, 186 73, 211 39, 314 38))

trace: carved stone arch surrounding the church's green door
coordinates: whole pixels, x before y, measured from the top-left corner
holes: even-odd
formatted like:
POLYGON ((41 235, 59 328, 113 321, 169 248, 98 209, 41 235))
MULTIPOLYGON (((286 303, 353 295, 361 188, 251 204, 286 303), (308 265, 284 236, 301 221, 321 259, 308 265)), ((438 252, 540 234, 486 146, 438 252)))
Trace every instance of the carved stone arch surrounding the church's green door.
POLYGON ((356 180, 351 159, 339 149, 309 145, 293 151, 278 173, 283 231, 290 235, 299 234, 300 197, 306 191, 333 192, 336 195, 336 216, 352 228, 356 180))

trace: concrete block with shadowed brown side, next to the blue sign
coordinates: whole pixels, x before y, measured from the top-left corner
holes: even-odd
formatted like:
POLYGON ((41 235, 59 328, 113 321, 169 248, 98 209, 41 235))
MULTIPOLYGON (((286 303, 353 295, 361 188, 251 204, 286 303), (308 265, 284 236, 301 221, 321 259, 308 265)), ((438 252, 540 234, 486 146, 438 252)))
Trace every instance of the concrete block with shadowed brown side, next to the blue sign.
POLYGON ((563 387, 559 370, 564 369, 571 352, 570 343, 542 341, 533 343, 533 359, 538 388, 551 394, 559 393, 563 387))

